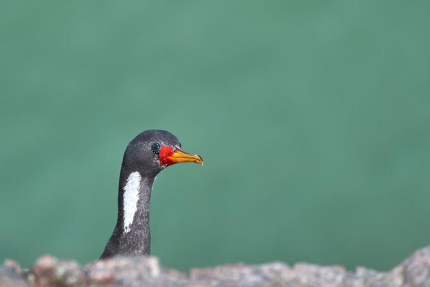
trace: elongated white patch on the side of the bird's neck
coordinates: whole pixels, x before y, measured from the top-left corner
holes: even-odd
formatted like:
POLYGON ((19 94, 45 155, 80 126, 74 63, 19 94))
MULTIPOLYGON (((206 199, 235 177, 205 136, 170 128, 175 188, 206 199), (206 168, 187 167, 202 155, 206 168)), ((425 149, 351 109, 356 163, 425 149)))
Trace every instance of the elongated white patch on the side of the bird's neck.
POLYGON ((124 234, 130 231, 130 226, 135 218, 141 180, 142 176, 140 176, 139 172, 133 172, 128 176, 126 186, 122 188, 122 190, 124 190, 122 198, 122 200, 124 200, 124 234))

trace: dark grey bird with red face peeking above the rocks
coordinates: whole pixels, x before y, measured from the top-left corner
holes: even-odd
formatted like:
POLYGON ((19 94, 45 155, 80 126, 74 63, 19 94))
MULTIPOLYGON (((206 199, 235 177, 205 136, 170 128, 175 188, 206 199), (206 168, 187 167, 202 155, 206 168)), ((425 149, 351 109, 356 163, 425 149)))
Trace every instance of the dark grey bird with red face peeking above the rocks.
POLYGON ((100 259, 150 255, 150 196, 155 177, 176 163, 200 163, 198 154, 183 152, 167 130, 145 130, 124 152, 118 186, 117 222, 100 259))

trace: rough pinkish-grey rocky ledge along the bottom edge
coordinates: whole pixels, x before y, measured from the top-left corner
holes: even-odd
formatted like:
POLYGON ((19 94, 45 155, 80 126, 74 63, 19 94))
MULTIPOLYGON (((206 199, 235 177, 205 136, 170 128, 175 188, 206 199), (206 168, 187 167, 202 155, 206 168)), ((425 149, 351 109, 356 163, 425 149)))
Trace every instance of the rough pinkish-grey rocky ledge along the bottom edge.
POLYGON ((44 255, 30 271, 23 271, 16 262, 6 260, 0 266, 0 286, 430 287, 430 246, 416 251, 388 272, 364 267, 346 271, 342 266, 305 263, 288 266, 273 262, 196 268, 185 274, 163 268, 156 257, 118 257, 79 266, 74 261, 44 255))

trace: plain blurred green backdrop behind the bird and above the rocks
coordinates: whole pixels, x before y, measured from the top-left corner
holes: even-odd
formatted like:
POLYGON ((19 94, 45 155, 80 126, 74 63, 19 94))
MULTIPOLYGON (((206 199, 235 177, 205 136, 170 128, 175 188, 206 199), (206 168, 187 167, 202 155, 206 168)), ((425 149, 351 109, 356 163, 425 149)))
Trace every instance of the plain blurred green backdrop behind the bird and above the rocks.
POLYGON ((2 1, 0 260, 100 256, 170 130, 152 254, 392 268, 430 244, 429 1, 2 1))

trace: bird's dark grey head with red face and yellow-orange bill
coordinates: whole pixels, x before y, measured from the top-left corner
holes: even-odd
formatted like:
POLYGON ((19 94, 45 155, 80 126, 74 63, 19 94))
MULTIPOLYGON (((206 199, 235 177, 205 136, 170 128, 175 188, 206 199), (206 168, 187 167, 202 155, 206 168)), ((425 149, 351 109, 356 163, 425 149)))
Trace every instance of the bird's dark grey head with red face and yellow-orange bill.
POLYGON ((128 143, 122 168, 138 171, 142 176, 156 176, 169 165, 181 162, 203 160, 199 155, 183 152, 178 138, 167 130, 145 130, 128 143))

